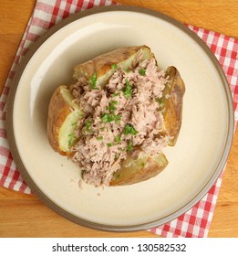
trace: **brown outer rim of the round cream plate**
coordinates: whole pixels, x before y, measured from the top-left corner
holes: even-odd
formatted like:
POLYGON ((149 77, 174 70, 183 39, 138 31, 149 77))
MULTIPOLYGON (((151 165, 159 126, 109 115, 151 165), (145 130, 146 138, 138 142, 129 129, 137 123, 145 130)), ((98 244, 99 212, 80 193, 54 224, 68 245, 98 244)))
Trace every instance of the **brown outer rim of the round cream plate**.
MULTIPOLYGON (((164 15, 158 11, 153 11, 144 7, 139 6, 132 6, 132 5, 109 5, 109 6, 98 6, 94 7, 82 12, 78 12, 76 14, 72 14, 70 16, 67 16, 67 18, 59 21, 57 25, 50 27, 44 35, 39 37, 36 42, 33 43, 33 45, 30 46, 30 48, 27 50, 26 55, 24 56, 24 59, 22 59, 21 63, 17 65, 16 67, 16 74, 14 79, 10 83, 10 91, 7 97, 6 102, 6 133, 10 134, 7 136, 8 144, 10 147, 10 151, 13 155, 14 161, 16 162, 16 166, 18 171, 20 172, 21 176, 26 181, 26 184, 32 192, 41 199, 41 201, 47 205, 48 208, 51 208, 53 211, 57 212, 60 216, 62 216, 65 219, 68 219, 78 225, 91 228, 91 229, 99 229, 99 230, 106 230, 106 231, 136 231, 136 230, 142 230, 142 229, 151 229, 153 227, 157 227, 160 225, 163 225, 172 219, 176 219, 180 217, 183 213, 185 213, 187 210, 192 208, 196 203, 198 203, 202 197, 204 197, 212 185, 216 182, 217 178, 221 175, 223 166, 225 165, 227 161, 227 157, 229 155, 232 142, 233 142, 233 127, 234 127, 234 117, 233 117, 233 100, 232 100, 232 92, 230 90, 229 83, 226 79, 226 76, 222 70, 222 67, 218 61, 218 59, 215 58, 214 54, 212 53, 212 50, 202 41, 202 38, 198 37, 194 32, 191 31, 189 27, 184 26, 180 21, 174 19, 171 16, 164 15), (225 91, 225 97, 227 100, 227 106, 228 106, 228 131, 226 134, 226 143, 224 144, 222 156, 220 158, 220 161, 217 163, 216 168, 214 169, 212 176, 208 179, 206 184, 202 187, 202 189, 195 195, 187 204, 184 206, 181 206, 181 208, 178 208, 173 213, 169 214, 168 216, 165 216, 161 219, 152 220, 147 223, 143 224, 134 224, 134 225, 107 225, 107 224, 101 224, 101 223, 95 223, 93 221, 88 221, 86 219, 81 219, 75 216, 74 214, 69 213, 67 210, 59 207, 55 202, 53 202, 50 198, 45 195, 45 193, 41 190, 40 187, 37 187, 35 182, 32 180, 32 178, 29 176, 27 172, 26 166, 23 164, 23 161, 21 160, 21 157, 17 151, 17 145, 14 135, 14 123, 13 123, 13 110, 14 110, 14 100, 16 96, 17 91, 17 85, 18 82, 21 79, 21 76, 23 74, 23 71, 26 69, 26 66, 29 62, 29 60, 34 56, 36 50, 40 48, 40 46, 47 41, 47 38, 53 36, 59 29, 66 27, 68 24, 80 19, 84 18, 86 16, 91 16, 95 14, 102 14, 102 13, 108 13, 108 12, 114 12, 114 11, 126 11, 126 12, 132 12, 132 13, 140 13, 145 14, 149 16, 155 16, 157 18, 160 18, 161 20, 169 22, 174 27, 177 27, 182 30, 185 34, 187 34, 189 37, 194 39, 194 41, 204 50, 205 54, 208 56, 208 58, 212 61, 213 67, 216 69, 220 79, 222 80, 223 89, 225 91)), ((6 134, 6 135, 7 135, 6 134)))

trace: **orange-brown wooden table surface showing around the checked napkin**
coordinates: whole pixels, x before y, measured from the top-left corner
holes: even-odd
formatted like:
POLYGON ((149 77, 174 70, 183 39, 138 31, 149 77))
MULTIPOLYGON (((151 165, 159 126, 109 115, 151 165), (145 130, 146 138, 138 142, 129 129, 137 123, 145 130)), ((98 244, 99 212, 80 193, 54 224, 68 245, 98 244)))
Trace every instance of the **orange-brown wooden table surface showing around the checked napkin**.
MULTIPOLYGON (((121 0, 147 6, 183 23, 238 38, 237 0, 121 0)), ((32 14, 33 0, 0 0, 0 85, 32 14)), ((0 237, 157 237, 148 231, 112 233, 87 229, 59 217, 38 198, 0 187, 0 237)), ((238 237, 238 132, 222 180, 209 237, 238 237)))

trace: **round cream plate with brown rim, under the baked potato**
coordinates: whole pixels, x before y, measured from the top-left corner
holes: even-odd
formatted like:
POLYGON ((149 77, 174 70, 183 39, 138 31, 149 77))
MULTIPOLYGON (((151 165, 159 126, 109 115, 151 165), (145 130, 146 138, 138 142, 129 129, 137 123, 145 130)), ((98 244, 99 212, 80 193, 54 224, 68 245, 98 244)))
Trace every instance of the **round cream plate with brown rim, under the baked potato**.
POLYGON ((149 10, 113 6, 70 16, 39 39, 16 72, 7 123, 16 165, 50 208, 96 229, 148 229, 180 216, 212 187, 231 146, 233 104, 217 60, 190 29, 149 10), (50 97, 76 64, 143 44, 162 69, 179 69, 186 85, 181 133, 165 150, 170 164, 140 184, 81 189, 78 168, 48 144, 50 97))

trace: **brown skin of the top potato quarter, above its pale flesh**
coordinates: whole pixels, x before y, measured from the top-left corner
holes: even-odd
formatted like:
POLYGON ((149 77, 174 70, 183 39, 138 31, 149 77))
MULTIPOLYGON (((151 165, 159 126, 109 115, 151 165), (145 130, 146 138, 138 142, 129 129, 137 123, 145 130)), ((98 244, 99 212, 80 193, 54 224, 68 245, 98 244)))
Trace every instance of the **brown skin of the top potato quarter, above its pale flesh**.
POLYGON ((110 69, 112 64, 117 64, 121 61, 129 59, 133 54, 137 53, 140 48, 148 48, 146 46, 140 47, 129 47, 129 48, 118 48, 109 53, 102 54, 95 59, 91 59, 87 62, 78 64, 74 68, 74 79, 79 77, 85 77, 90 79, 93 74, 97 74, 97 78, 106 74, 110 69))

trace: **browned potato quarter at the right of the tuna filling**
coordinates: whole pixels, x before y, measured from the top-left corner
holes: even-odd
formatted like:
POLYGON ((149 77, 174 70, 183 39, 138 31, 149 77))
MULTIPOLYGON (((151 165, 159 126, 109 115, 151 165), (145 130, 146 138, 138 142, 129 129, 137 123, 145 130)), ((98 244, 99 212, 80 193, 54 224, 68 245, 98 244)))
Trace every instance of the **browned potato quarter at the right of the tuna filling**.
POLYGON ((164 130, 171 139, 169 144, 173 146, 176 144, 177 138, 181 130, 181 119, 182 119, 182 100, 185 92, 185 85, 181 79, 180 72, 174 67, 169 67, 166 70, 170 77, 169 87, 165 91, 165 94, 169 94, 170 97, 166 99, 164 95, 164 130))

